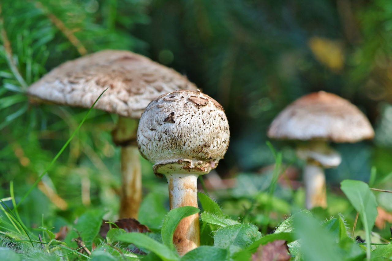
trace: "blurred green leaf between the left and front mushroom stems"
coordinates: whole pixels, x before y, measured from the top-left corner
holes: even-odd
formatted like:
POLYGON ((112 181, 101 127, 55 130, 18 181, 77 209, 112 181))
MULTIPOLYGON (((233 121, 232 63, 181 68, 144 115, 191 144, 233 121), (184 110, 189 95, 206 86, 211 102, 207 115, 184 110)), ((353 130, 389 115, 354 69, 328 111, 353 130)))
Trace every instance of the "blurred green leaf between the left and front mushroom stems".
POLYGON ((149 193, 142 201, 139 209, 139 222, 150 229, 160 229, 167 214, 165 197, 160 194, 149 193))

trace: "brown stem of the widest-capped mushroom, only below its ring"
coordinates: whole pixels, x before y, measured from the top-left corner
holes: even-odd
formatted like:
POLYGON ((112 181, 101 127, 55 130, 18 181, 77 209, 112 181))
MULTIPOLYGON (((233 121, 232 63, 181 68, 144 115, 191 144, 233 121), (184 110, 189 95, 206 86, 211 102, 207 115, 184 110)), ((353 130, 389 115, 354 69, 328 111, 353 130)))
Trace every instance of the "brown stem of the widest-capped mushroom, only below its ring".
POLYGON ((122 191, 120 218, 138 218, 142 201, 142 170, 136 146, 121 147, 122 191))

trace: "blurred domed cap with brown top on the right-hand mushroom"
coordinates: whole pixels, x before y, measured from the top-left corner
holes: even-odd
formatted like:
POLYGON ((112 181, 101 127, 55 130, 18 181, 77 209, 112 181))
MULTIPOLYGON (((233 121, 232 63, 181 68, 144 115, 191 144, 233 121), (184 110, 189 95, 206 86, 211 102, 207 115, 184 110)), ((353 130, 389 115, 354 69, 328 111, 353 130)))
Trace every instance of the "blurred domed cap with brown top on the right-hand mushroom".
POLYGON ((320 91, 287 106, 272 121, 268 136, 276 139, 356 142, 374 137, 366 116, 349 101, 320 91))

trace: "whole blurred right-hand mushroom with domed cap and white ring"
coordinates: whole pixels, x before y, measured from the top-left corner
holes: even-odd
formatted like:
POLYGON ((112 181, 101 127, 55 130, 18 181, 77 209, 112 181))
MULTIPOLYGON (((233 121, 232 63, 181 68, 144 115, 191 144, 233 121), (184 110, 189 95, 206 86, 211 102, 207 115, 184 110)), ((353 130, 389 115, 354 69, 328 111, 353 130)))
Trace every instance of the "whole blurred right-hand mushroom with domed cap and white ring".
POLYGON ((366 116, 349 101, 320 91, 307 94, 287 106, 272 121, 268 136, 276 139, 308 141, 297 150, 305 159, 306 208, 327 207, 324 168, 337 167, 338 152, 328 141, 357 142, 374 137, 366 116))

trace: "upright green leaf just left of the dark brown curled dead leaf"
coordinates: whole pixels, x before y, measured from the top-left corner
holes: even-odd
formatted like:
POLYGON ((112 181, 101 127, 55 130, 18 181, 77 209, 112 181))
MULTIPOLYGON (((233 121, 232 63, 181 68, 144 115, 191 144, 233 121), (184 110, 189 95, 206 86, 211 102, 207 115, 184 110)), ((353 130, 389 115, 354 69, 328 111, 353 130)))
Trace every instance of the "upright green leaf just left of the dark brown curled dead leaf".
POLYGON ((89 210, 79 217, 78 223, 75 225, 83 243, 85 243, 88 249, 91 249, 93 240, 98 235, 105 212, 100 209, 89 210))

